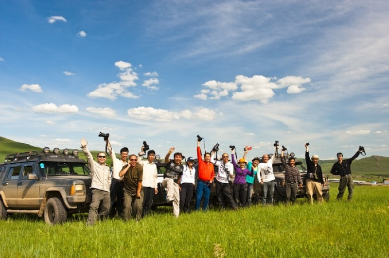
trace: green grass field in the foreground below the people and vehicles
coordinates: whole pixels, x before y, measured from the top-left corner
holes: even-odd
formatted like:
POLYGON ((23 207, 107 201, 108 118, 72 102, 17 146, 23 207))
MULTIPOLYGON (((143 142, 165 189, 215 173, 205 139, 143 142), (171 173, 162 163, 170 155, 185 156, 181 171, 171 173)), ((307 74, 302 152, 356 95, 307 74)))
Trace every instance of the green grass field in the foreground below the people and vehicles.
MULTIPOLYGON (((347 192, 347 191, 346 191, 347 192)), ((50 226, 33 215, 0 221, 2 257, 388 257, 389 187, 355 186, 353 202, 252 206, 182 214, 159 208, 139 223, 50 226)), ((347 197, 347 196, 346 196, 347 197)))

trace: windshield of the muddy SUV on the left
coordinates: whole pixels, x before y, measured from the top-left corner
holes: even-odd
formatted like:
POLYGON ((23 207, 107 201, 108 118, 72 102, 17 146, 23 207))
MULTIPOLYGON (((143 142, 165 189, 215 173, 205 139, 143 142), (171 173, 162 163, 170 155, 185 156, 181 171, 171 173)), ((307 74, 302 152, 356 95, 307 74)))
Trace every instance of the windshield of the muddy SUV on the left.
POLYGON ((39 163, 44 175, 89 175, 89 169, 84 163, 49 162, 39 163))

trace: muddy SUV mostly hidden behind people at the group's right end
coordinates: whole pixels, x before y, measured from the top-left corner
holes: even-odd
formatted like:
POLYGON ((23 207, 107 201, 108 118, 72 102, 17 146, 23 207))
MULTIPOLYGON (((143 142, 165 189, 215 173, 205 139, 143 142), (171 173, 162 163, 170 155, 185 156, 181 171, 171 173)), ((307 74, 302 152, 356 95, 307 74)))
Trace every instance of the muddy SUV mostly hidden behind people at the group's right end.
MULTIPOLYGON (((291 153, 292 154, 292 153, 291 153)), ((286 159, 289 158, 291 155, 285 153, 286 159)), ((262 159, 262 158, 261 158, 262 159)), ((306 173, 307 169, 304 167, 302 161, 300 159, 295 159, 296 164, 295 166, 299 168, 300 170, 300 176, 302 180, 302 188, 299 188, 297 192, 296 198, 307 198, 307 194, 305 191, 305 181, 306 181, 306 173)), ((285 174, 283 165, 281 162, 281 155, 276 154, 276 159, 273 163, 273 173, 274 177, 276 178, 275 181, 275 188, 274 188, 274 202, 284 202, 286 201, 286 194, 285 194, 285 174)), ((329 201, 330 199, 330 184, 328 182, 328 175, 323 174, 323 180, 324 180, 324 187, 322 187, 322 196, 323 199, 326 201, 329 201)), ((254 187, 253 187, 253 203, 260 202, 262 197, 262 185, 258 182, 258 180, 255 179, 254 181, 254 187)), ((314 194, 314 198, 316 198, 316 195, 314 194)))

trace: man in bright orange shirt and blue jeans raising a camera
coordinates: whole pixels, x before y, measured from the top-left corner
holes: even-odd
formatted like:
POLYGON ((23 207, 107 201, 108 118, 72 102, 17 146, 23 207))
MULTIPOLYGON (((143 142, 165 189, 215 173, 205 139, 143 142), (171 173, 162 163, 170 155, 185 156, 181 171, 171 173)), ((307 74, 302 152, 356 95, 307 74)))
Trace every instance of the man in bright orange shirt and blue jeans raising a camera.
POLYGON ((215 171, 213 170, 213 163, 211 162, 211 154, 209 152, 204 154, 204 160, 201 157, 200 142, 197 140, 197 159, 198 159, 198 179, 197 179, 197 202, 195 210, 200 208, 200 202, 204 195, 203 210, 208 209, 210 202, 211 188, 213 185, 213 177, 215 171))

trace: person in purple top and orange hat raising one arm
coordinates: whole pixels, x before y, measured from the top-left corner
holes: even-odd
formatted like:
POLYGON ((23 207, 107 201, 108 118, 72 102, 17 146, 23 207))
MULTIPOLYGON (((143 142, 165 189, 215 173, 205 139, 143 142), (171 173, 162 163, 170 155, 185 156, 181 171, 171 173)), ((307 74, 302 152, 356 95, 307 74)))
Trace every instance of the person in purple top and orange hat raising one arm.
POLYGON ((251 175, 252 172, 246 168, 247 161, 244 158, 240 158, 238 164, 236 164, 234 157, 235 149, 231 149, 232 165, 235 169, 235 179, 234 179, 234 200, 236 206, 244 207, 247 200, 247 183, 246 175, 251 175))

